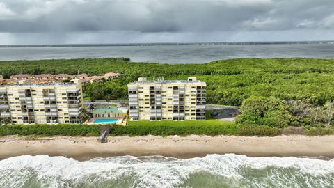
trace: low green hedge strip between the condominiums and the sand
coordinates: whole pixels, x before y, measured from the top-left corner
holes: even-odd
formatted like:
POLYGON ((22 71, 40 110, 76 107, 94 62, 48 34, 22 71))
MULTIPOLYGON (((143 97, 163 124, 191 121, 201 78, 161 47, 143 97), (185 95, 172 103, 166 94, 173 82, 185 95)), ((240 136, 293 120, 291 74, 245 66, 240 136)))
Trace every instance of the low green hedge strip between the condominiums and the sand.
MULTIPOLYGON (((259 130, 258 127, 248 125, 235 125, 234 123, 164 123, 144 122, 134 125, 121 126, 109 125, 111 136, 145 136, 145 135, 241 135, 241 136, 276 136, 279 134, 277 128, 265 127, 259 130), (184 123, 184 124, 183 124, 184 123), (248 126, 245 127, 244 126, 248 126)), ((105 125, 104 125, 105 126, 105 125)), ((1 125, 0 136, 7 135, 41 135, 41 136, 99 136, 101 125, 1 125)))

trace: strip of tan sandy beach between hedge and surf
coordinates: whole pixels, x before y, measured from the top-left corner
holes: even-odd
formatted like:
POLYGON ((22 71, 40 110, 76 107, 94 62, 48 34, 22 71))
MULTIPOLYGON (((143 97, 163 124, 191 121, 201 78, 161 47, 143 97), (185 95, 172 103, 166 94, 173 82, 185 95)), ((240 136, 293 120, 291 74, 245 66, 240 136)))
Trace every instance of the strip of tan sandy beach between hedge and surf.
POLYGON ((108 143, 97 142, 97 137, 0 137, 0 159, 18 155, 62 155, 79 160, 120 155, 189 158, 224 153, 334 158, 334 136, 115 136, 108 143))

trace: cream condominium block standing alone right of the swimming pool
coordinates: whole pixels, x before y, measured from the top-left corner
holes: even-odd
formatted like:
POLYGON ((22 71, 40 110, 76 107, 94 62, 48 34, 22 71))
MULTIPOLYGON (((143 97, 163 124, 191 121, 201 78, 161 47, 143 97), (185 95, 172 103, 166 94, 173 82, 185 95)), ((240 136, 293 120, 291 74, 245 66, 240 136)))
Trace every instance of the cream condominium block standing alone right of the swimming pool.
POLYGON ((129 83, 131 120, 205 120, 205 82, 139 78, 129 83))

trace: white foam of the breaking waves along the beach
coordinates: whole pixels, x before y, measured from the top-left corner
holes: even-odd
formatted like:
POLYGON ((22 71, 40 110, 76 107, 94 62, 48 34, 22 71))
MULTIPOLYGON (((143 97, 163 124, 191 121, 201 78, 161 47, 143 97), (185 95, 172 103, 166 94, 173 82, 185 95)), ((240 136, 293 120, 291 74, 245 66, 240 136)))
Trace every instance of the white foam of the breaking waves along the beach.
MULTIPOLYGON (((0 161, 0 184, 8 185, 6 187, 13 185, 20 187, 31 178, 29 177, 31 172, 34 172, 37 174, 36 179, 48 185, 47 187, 70 187, 70 182, 72 185, 79 185, 87 179, 94 184, 106 180, 122 180, 122 178, 133 178, 132 187, 177 187, 189 180, 191 175, 199 172, 245 181, 247 177, 239 171, 245 167, 255 170, 269 167, 296 169, 298 173, 308 174, 311 177, 325 177, 321 182, 323 185, 328 184, 326 176, 331 178, 334 175, 333 159, 325 161, 297 157, 246 157, 226 154, 191 159, 122 156, 79 162, 66 157, 24 155, 0 161)), ((292 180, 276 171, 273 171, 273 177, 268 177, 276 178, 272 181, 292 180)))

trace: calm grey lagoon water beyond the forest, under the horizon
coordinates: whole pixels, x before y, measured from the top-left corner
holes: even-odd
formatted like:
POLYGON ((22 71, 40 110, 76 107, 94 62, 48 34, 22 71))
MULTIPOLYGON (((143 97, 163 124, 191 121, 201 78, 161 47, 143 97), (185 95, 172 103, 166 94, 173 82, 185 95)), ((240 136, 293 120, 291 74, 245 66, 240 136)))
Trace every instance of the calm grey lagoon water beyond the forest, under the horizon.
POLYGON ((135 62, 207 63, 228 58, 334 58, 334 42, 125 46, 0 47, 0 61, 128 57, 135 62))

